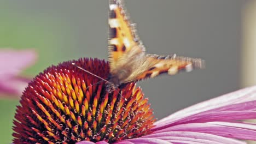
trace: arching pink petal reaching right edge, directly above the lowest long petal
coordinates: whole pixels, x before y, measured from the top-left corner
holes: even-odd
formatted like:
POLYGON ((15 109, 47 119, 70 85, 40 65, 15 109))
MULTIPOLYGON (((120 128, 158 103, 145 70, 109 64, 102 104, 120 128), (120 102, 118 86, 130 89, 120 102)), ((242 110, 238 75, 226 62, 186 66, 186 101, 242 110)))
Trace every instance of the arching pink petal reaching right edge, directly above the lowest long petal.
POLYGON ((241 140, 256 140, 256 131, 235 128, 235 127, 225 127, 222 125, 206 124, 206 123, 189 123, 175 125, 170 128, 162 129, 157 131, 157 133, 167 132, 167 131, 194 131, 199 133, 213 134, 223 137, 231 137, 234 139, 241 140))

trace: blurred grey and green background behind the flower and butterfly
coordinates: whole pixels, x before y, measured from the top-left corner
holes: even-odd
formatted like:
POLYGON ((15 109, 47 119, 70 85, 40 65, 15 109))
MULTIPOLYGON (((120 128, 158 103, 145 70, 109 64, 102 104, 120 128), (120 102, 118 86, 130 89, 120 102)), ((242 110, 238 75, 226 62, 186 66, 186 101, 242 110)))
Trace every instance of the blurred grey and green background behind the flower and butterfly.
MULTIPOLYGON (((148 53, 206 60, 206 69, 138 83, 158 119, 255 85, 255 0, 130 0, 126 7, 148 53)), ((0 50, 36 50, 39 57, 22 73, 26 77, 71 59, 107 59, 107 16, 107 0, 0 0, 0 50)), ((19 99, 0 95, 0 140, 10 143, 19 99)))

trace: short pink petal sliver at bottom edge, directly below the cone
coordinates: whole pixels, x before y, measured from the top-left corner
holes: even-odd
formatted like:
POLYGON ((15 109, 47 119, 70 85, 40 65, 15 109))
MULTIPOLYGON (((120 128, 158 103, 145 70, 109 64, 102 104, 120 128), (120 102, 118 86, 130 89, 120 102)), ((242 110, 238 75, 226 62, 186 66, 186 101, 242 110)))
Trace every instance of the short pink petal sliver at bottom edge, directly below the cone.
MULTIPOLYGON (((124 140, 121 142, 132 142, 132 143, 148 143, 148 144, 170 144, 172 142, 168 142, 165 140, 161 140, 161 139, 155 139, 155 138, 137 138, 137 139, 129 139, 129 140, 124 140)), ((120 142, 117 142, 117 144, 120 144, 120 142)))

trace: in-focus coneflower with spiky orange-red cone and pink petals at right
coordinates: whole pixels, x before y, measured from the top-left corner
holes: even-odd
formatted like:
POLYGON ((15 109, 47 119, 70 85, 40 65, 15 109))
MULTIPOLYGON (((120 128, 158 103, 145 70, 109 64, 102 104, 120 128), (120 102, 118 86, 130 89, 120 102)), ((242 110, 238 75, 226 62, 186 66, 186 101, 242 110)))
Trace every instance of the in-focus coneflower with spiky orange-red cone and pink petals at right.
POLYGON ((100 77, 108 76, 106 62, 88 58, 44 70, 22 94, 14 121, 15 144, 240 144, 245 143, 240 140, 256 140, 256 125, 241 121, 256 118, 256 87, 205 101, 155 122, 148 99, 135 83, 107 93, 106 83, 72 62, 100 77))

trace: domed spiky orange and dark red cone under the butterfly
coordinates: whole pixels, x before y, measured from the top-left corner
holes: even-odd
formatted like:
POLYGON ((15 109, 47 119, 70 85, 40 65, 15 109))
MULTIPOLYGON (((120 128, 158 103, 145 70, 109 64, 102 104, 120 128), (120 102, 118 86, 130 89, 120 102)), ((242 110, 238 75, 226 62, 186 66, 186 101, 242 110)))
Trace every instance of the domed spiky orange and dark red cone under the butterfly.
MULTIPOLYGON (((72 62, 103 78, 109 73, 98 59, 72 62)), ((153 111, 135 83, 109 94, 106 83, 93 85, 100 80, 72 62, 49 67, 27 86, 15 114, 15 144, 112 143, 151 133, 153 111)))

